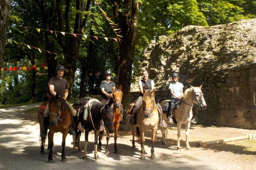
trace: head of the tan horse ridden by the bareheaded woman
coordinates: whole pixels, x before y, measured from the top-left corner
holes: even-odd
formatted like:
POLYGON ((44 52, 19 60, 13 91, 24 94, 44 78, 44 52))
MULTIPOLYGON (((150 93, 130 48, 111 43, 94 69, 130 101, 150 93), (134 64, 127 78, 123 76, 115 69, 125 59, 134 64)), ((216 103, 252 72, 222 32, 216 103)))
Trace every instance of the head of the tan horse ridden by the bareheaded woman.
POLYGON ((155 105, 154 89, 152 89, 151 91, 145 90, 142 101, 144 116, 145 118, 149 118, 155 105))

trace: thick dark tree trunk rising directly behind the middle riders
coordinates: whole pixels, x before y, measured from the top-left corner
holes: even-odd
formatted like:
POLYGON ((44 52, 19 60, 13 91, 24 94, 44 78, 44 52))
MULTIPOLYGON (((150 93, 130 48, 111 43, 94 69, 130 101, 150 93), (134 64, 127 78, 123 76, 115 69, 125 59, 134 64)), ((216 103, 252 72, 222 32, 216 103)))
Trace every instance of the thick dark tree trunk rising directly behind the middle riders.
POLYGON ((139 3, 138 0, 126 0, 124 5, 121 6, 121 0, 112 0, 112 4, 115 22, 122 29, 122 41, 119 42, 118 82, 119 85, 122 85, 124 94, 122 104, 124 105, 124 113, 126 113, 129 107, 132 62, 134 60, 139 20, 139 3), (120 10, 120 8, 123 10, 120 10))

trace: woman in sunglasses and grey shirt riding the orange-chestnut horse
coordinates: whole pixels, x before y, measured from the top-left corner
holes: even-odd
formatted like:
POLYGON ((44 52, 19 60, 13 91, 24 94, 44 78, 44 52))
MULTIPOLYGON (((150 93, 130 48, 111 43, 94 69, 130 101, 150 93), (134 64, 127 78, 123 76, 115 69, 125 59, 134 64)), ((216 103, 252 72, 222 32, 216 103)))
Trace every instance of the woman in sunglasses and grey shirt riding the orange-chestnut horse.
POLYGON ((101 97, 99 101, 104 105, 106 104, 108 99, 112 97, 113 90, 111 86, 113 88, 116 88, 115 83, 110 80, 111 76, 112 76, 111 71, 105 71, 105 80, 103 80, 99 85, 99 88, 101 90, 101 97))

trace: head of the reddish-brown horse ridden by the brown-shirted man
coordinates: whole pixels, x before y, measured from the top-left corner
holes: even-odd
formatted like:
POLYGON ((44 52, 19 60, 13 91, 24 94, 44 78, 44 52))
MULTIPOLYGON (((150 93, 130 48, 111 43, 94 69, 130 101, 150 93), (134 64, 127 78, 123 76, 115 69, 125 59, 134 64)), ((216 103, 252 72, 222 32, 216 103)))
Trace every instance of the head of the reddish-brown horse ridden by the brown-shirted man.
POLYGON ((61 102, 58 93, 55 96, 49 98, 49 124, 53 125, 58 123, 58 119, 61 115, 61 102))

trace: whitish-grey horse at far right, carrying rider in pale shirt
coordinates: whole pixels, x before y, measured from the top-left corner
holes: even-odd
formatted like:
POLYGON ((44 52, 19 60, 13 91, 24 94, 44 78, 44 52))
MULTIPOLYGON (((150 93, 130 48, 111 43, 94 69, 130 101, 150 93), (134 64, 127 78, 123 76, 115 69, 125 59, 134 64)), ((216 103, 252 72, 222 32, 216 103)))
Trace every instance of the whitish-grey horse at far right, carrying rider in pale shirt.
MULTIPOLYGON (((207 104, 204 100, 203 93, 201 91, 201 87, 193 87, 186 89, 183 95, 183 99, 180 102, 180 105, 177 109, 174 110, 174 118, 177 121, 177 150, 180 150, 180 129, 181 125, 185 125, 186 130, 186 149, 189 149, 189 127, 191 125, 191 119, 193 117, 192 107, 193 105, 197 105, 199 109, 204 110, 207 108, 207 104)), ((170 100, 165 100, 161 103, 163 106, 166 102, 170 100)), ((166 120, 166 113, 164 113, 163 118, 166 120)), ((166 128, 161 127, 162 131, 162 142, 165 144, 165 138, 168 135, 168 126, 166 128)))

